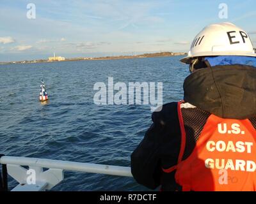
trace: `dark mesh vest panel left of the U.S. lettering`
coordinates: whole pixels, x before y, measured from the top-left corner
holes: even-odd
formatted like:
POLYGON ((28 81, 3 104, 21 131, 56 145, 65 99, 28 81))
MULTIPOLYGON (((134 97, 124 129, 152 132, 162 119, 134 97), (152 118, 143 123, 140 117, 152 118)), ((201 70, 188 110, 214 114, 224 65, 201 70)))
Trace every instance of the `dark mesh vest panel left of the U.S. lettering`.
POLYGON ((181 108, 181 112, 186 131, 186 146, 182 157, 182 160, 184 160, 195 149, 196 141, 211 113, 205 112, 200 108, 181 108))

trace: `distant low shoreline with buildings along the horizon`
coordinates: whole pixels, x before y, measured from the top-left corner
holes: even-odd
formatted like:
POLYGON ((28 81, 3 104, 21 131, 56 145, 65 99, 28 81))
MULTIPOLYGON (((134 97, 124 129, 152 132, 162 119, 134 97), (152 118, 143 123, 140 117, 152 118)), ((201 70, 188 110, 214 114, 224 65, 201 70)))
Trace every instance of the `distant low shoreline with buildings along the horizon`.
MULTIPOLYGON (((136 59, 136 58, 148 58, 148 57, 173 57, 186 55, 186 52, 156 52, 150 54, 141 54, 141 55, 119 55, 119 56, 106 56, 106 57, 76 57, 65 59, 65 61, 96 61, 96 60, 112 60, 112 59, 136 59)), ((36 59, 32 61, 13 61, 13 62, 0 62, 0 64, 31 64, 31 63, 40 63, 40 62, 59 62, 59 61, 48 61, 47 59, 36 59)))

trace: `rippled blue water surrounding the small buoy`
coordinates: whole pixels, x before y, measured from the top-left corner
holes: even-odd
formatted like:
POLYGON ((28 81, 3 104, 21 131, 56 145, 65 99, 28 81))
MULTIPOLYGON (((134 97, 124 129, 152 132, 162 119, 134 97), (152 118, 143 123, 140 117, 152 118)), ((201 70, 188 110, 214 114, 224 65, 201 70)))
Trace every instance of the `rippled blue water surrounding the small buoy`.
MULTIPOLYGON (((0 153, 130 166, 151 122, 150 105, 93 103, 93 85, 163 82, 163 101, 182 99, 180 57, 0 66, 0 153), (49 102, 38 101, 44 78, 49 102)), ((10 189, 17 184, 9 177, 10 189)), ((142 191, 132 178, 65 171, 54 191, 142 191)))

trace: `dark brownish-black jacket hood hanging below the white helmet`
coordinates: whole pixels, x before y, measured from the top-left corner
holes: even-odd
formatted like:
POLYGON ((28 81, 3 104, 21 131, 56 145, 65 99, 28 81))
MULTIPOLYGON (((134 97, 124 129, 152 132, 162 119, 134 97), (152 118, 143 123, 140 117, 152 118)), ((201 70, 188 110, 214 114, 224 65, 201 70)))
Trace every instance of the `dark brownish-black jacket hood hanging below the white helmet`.
POLYGON ((249 119, 256 115, 256 68, 198 69, 184 81, 184 101, 221 118, 249 119))

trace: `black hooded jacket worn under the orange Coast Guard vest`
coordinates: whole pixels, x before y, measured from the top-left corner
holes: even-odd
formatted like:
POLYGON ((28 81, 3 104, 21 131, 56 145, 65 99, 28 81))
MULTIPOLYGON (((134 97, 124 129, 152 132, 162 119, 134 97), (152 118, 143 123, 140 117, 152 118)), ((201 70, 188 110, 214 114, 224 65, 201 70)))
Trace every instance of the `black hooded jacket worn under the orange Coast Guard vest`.
MULTIPOLYGON (((250 119, 256 128, 256 68, 253 66, 215 66, 198 69, 184 81, 184 101, 196 108, 184 110, 184 126, 192 135, 186 145, 189 156, 209 115, 229 119, 250 119)), ((174 191, 175 171, 163 173, 161 168, 177 164, 180 150, 180 126, 177 103, 163 105, 152 114, 152 126, 140 145, 132 152, 131 171, 139 184, 150 189, 160 186, 174 191)))

